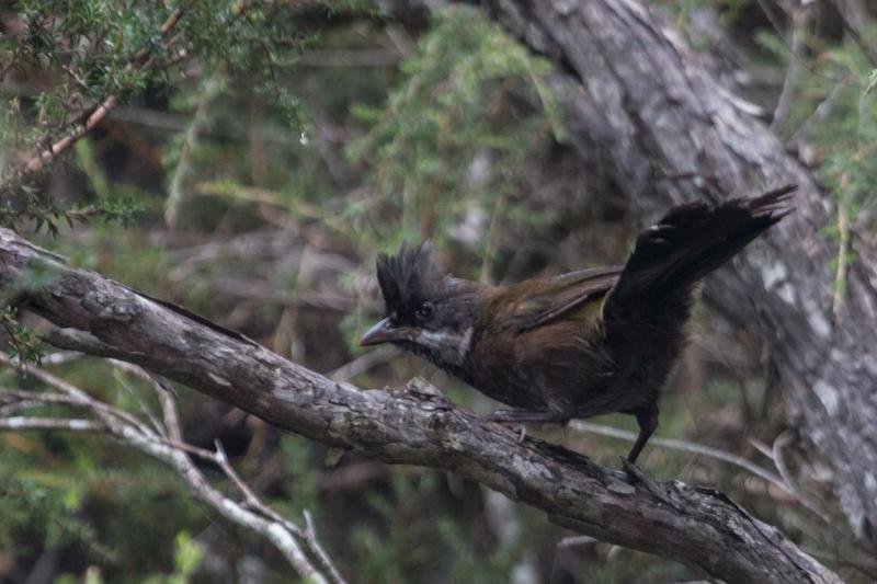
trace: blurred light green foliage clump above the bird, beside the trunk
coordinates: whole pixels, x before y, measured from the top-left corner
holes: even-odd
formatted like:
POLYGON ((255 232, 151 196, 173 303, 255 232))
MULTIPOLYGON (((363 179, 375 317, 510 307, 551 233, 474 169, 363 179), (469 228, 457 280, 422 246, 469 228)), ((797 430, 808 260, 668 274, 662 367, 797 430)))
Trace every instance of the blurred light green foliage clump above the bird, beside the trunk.
POLYGON ((515 192, 533 148, 562 133, 546 61, 478 11, 448 8, 433 19, 386 106, 353 110, 369 129, 348 152, 368 162, 375 191, 357 225, 365 237, 363 226, 380 216, 385 250, 402 239, 441 242, 472 204, 489 214, 515 192))

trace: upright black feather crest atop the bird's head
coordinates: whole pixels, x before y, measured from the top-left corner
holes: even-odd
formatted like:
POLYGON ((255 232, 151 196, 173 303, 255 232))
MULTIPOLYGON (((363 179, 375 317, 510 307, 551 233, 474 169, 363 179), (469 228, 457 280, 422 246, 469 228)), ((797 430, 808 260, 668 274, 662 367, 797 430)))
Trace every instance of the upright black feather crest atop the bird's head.
POLYGON ((405 312, 429 296, 436 277, 429 243, 411 247, 402 242, 396 255, 377 255, 377 282, 388 314, 405 312))

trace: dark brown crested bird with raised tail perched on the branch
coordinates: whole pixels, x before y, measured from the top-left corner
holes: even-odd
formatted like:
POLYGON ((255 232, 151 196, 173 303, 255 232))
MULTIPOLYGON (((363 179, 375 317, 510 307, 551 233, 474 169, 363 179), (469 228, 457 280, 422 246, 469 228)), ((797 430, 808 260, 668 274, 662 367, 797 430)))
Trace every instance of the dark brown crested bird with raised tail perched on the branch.
POLYGON ((790 213, 796 188, 675 206, 639 233, 622 266, 505 286, 446 275, 431 245, 402 242, 377 255, 386 318, 360 343, 397 345, 510 406, 496 422, 634 415, 634 465, 658 427, 697 283, 790 213))

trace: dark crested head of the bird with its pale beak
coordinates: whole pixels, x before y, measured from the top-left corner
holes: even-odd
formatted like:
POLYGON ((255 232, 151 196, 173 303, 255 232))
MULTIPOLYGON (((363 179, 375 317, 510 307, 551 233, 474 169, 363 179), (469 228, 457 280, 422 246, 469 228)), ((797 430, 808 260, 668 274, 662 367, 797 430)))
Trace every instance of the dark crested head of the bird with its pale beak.
POLYGON ((471 345, 480 286, 440 274, 429 244, 377 256, 377 282, 386 318, 361 345, 392 343, 448 370, 459 369, 471 345))

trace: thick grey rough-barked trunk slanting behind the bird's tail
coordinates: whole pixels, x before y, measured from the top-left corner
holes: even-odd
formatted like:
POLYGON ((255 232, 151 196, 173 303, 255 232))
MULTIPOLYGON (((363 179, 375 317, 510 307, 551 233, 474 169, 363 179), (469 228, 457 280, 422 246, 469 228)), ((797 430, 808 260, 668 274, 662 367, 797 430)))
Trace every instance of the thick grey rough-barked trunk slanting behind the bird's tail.
POLYGON ((708 278, 705 297, 772 347, 791 423, 832 469, 854 530, 877 546, 875 250, 853 241, 857 260, 833 307, 838 245, 819 233, 834 221, 832 196, 758 107, 716 81, 709 55, 686 47, 656 11, 634 0, 481 4, 558 65, 570 139, 594 170, 588 179, 617 187, 642 216, 800 185, 796 213, 708 278))

